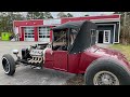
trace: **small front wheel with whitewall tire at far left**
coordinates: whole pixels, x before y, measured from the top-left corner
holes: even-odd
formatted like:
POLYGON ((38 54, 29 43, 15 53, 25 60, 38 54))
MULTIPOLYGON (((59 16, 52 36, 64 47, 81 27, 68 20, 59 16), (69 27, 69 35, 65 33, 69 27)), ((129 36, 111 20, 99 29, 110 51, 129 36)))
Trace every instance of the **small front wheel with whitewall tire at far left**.
POLYGON ((15 60, 10 54, 4 54, 2 56, 2 66, 4 73, 8 75, 13 75, 15 72, 15 60))

